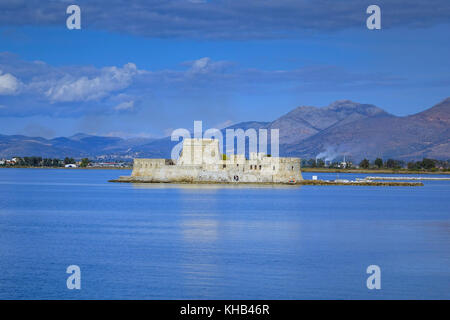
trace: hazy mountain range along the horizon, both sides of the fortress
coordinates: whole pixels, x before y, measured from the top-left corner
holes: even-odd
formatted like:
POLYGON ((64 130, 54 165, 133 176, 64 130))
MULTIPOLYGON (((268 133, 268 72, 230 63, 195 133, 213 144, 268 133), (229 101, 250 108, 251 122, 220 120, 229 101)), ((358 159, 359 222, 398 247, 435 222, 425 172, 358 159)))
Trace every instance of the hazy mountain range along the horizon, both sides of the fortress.
MULTIPOLYGON (((339 100, 300 106, 272 122, 241 122, 225 129, 279 129, 280 155, 333 160, 450 159, 450 98, 417 114, 395 116, 371 104, 339 100)), ((223 129, 223 130, 225 130, 223 129)), ((45 139, 0 135, 0 158, 42 156, 90 159, 169 158, 170 137, 149 139, 76 134, 45 139)))

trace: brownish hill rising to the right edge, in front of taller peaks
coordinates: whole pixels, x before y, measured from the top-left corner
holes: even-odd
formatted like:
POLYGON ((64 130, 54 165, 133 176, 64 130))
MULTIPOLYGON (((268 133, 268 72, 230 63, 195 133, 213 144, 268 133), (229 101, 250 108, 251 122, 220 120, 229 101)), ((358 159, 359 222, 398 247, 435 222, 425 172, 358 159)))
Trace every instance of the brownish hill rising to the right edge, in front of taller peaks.
POLYGON ((284 144, 283 151, 302 157, 315 157, 328 151, 357 160, 364 157, 447 160, 450 159, 450 98, 407 117, 380 113, 333 125, 299 142, 284 144))

